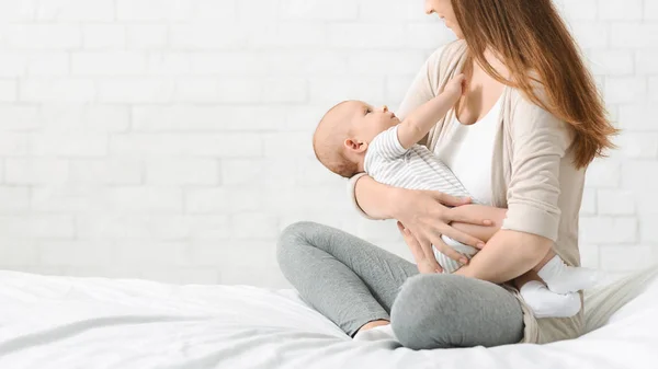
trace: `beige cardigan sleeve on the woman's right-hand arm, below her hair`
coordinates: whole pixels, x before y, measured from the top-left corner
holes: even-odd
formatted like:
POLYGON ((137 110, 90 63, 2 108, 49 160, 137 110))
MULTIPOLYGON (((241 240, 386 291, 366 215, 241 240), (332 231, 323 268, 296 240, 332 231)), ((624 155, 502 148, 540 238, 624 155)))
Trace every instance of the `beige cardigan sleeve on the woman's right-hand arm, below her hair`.
POLYGON ((559 169, 572 143, 572 129, 522 96, 513 102, 511 178, 502 229, 556 241, 559 228, 559 169))

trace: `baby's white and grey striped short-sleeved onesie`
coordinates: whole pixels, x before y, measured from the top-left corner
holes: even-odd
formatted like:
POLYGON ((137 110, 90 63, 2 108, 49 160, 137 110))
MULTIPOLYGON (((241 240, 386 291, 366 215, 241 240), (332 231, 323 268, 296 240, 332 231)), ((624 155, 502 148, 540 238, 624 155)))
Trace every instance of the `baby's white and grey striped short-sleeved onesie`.
MULTIPOLYGON (((398 126, 377 135, 365 153, 364 171, 375 181, 394 187, 439 191, 447 195, 470 196, 453 172, 427 147, 413 145, 405 149, 397 135, 398 126)), ((472 196, 470 196, 472 197, 472 196)), ((473 199, 474 203, 478 203, 473 199)), ((442 237, 455 251, 470 258, 477 249, 442 237)), ((462 264, 434 249, 434 256, 445 273, 457 270, 462 264)))

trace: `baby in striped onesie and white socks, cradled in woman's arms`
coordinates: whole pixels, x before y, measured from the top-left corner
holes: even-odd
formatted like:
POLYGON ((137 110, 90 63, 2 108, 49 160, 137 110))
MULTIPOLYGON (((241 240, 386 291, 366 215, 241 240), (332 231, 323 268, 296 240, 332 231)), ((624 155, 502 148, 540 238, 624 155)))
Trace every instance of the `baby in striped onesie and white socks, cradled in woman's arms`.
MULTIPOLYGON (((345 101, 332 107, 320 120, 314 135, 314 150, 318 160, 330 171, 343 177, 366 172, 375 181, 395 187, 439 191, 449 195, 469 197, 457 177, 427 147, 418 145, 430 129, 445 116, 463 94, 465 79, 456 76, 438 96, 411 112, 405 120, 386 106, 375 109, 359 101, 345 101)), ((500 227, 504 209, 484 205, 465 205, 498 227, 462 224, 466 233, 487 242, 500 227)), ((453 223, 457 228, 457 223, 453 223)), ((472 257, 477 249, 450 238, 442 240, 472 257)), ((435 247, 434 254, 444 273, 454 273, 462 264, 449 258, 435 247)), ((427 262, 422 252, 412 251, 419 269, 427 262)), ((535 267, 543 280, 531 280, 520 288, 521 296, 537 318, 568 318, 581 309, 577 291, 594 285, 594 270, 567 266, 551 251, 535 267), (545 285, 544 285, 545 284, 545 285)))

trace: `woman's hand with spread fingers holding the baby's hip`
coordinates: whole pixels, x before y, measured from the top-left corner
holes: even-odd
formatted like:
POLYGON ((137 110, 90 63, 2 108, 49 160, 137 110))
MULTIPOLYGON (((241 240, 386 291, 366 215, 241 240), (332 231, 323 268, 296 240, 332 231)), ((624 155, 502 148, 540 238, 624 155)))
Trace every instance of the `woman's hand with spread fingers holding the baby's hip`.
MULTIPOLYGON (((470 203, 470 198, 458 198, 435 191, 417 191, 398 188, 396 198, 393 201, 397 204, 395 218, 408 229, 413 239, 418 241, 424 257, 436 272, 443 272, 443 268, 436 263, 432 245, 447 257, 462 264, 468 264, 468 260, 446 245, 441 235, 462 242, 464 244, 483 249, 485 243, 469 234, 461 232, 450 226, 453 221, 463 223, 490 226, 489 219, 467 217, 463 211, 453 211, 450 207, 457 207, 470 203)), ((399 226, 398 226, 399 227, 399 226)), ((402 235, 404 232, 402 232, 402 235)), ((407 241, 407 239, 405 239, 407 241)), ((407 244, 411 247, 409 242, 407 244)))

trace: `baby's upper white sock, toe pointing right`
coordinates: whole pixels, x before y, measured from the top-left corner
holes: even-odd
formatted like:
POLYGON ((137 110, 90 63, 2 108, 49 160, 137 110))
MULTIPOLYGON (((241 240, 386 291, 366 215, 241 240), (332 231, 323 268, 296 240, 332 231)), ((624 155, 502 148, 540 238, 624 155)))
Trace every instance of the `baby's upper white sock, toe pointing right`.
POLYGON ((540 272, 549 290, 555 293, 569 293, 593 287, 601 278, 599 272, 589 268, 568 266, 555 255, 540 272))

